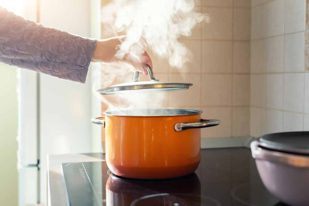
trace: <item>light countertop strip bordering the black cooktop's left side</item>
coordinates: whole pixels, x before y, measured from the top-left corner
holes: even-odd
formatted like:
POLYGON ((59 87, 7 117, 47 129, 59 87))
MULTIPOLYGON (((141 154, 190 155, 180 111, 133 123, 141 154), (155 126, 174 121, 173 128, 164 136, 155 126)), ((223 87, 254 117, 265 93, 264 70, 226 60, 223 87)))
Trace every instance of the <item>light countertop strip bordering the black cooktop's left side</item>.
POLYGON ((66 193, 62 163, 103 161, 102 153, 52 154, 47 157, 47 203, 49 206, 70 205, 66 193))

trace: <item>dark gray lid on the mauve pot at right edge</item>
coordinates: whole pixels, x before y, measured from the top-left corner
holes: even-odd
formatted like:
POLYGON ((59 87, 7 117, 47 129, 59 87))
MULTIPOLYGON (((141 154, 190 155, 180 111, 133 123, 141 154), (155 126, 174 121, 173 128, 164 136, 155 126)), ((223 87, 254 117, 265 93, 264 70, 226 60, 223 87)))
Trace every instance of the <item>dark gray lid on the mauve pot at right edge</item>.
POLYGON ((309 155, 309 131, 272 133, 259 140, 266 149, 309 155))

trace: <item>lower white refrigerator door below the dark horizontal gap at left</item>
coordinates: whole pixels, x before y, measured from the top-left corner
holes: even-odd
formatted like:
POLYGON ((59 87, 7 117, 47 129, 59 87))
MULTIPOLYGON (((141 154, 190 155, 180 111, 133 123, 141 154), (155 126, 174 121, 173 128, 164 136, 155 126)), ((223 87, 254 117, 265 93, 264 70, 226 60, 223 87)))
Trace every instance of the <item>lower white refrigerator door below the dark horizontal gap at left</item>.
POLYGON ((19 167, 18 169, 18 205, 37 205, 38 197, 38 168, 19 167))

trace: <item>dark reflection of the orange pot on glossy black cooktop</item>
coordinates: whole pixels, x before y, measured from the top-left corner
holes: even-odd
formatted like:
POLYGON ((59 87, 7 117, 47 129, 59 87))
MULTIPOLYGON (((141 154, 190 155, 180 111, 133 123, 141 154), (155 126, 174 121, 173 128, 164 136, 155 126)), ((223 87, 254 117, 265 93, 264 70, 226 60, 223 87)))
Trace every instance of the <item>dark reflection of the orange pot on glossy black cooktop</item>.
MULTIPOLYGON (((201 183, 195 173, 174 179, 137 180, 110 176, 106 183, 106 205, 174 205, 176 202, 201 204, 201 183), (147 196, 149 195, 149 196, 147 196), (146 197, 145 197, 146 196, 146 197), (152 197, 146 200, 147 197, 152 197)), ((176 204, 177 205, 177 204, 176 204)), ((181 205, 181 204, 180 204, 181 205)), ((192 204, 188 204, 192 205, 192 204)))

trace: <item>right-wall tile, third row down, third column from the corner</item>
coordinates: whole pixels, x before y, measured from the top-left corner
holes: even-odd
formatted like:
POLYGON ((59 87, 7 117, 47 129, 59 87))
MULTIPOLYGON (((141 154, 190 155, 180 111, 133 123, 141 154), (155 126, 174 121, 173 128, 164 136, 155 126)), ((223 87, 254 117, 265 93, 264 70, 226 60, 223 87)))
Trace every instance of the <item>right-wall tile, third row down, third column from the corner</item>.
POLYGON ((285 111, 303 113, 304 109, 304 73, 284 74, 285 111))

